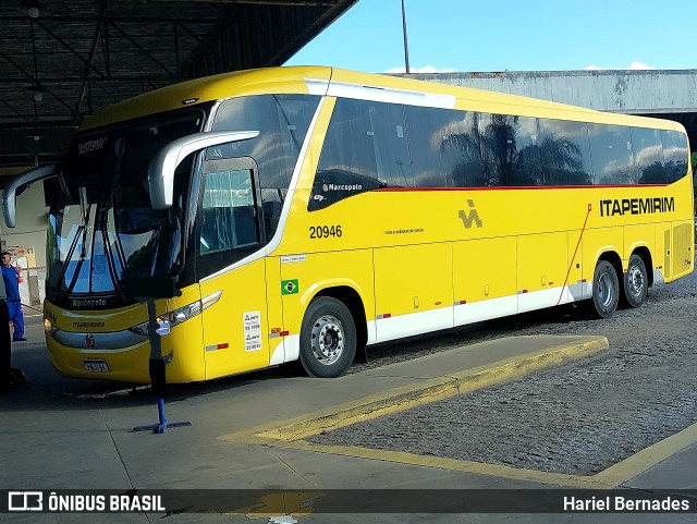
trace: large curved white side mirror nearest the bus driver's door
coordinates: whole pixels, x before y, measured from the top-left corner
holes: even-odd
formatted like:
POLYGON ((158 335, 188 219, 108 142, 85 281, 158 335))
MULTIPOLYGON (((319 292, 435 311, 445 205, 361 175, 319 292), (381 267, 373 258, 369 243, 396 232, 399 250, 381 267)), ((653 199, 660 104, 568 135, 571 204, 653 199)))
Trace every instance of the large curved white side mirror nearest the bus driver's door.
POLYGON ((217 131, 184 136, 164 146, 148 168, 148 187, 152 209, 172 207, 174 171, 188 155, 210 146, 247 141, 257 136, 259 136, 258 131, 217 131))

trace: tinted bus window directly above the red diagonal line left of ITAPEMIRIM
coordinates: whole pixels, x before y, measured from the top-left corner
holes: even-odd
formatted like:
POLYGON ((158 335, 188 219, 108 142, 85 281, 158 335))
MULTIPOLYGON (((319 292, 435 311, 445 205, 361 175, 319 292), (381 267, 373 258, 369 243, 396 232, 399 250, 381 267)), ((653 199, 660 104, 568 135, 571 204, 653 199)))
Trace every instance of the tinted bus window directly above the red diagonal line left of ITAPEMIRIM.
POLYGON ((594 183, 586 123, 540 119, 538 130, 545 185, 594 183))

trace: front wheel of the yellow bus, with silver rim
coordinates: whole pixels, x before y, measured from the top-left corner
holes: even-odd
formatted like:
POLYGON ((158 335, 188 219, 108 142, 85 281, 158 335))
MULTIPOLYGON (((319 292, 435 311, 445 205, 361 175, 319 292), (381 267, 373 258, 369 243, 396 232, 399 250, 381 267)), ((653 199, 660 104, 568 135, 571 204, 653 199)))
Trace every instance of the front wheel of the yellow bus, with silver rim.
POLYGON ((356 325, 348 308, 337 298, 310 302, 301 326, 303 368, 310 377, 341 377, 356 354, 356 325))

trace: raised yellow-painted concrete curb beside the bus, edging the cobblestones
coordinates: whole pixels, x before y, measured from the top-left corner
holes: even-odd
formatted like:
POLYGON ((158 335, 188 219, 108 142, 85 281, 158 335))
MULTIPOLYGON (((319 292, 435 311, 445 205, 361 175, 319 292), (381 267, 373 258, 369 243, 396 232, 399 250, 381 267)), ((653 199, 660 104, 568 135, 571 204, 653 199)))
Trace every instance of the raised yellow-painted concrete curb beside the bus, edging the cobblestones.
MULTIPOLYGON (((456 371, 449 376, 419 380, 417 383, 320 410, 307 414, 301 419, 285 421, 286 424, 281 427, 278 425, 276 427, 260 427, 246 432, 246 435, 257 439, 299 440, 382 415, 519 379, 534 373, 594 356, 609 349, 606 337, 588 337, 587 339, 583 342, 559 344, 485 366, 456 371)), ((232 440, 233 436, 223 437, 223 439, 232 440)))

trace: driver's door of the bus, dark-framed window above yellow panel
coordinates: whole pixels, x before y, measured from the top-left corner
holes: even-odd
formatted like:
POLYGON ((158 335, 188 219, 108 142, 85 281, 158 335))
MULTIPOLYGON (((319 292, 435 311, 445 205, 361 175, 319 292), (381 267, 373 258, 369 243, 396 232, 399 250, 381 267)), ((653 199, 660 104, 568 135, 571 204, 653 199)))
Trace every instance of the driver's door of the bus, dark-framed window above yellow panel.
POLYGON ((231 268, 266 241, 256 162, 248 157, 204 161, 199 192, 196 273, 204 307, 220 293, 203 310, 210 379, 269 364, 264 257, 231 268))

